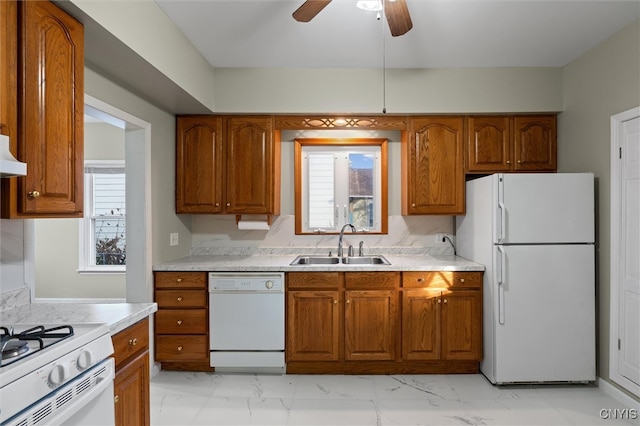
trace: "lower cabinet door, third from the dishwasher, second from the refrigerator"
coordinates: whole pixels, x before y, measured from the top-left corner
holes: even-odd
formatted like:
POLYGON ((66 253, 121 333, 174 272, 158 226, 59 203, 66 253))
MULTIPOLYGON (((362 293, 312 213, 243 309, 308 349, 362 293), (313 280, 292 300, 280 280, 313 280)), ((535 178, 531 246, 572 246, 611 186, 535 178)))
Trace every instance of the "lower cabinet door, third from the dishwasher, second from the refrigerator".
POLYGON ((402 358, 440 359, 440 290, 402 292, 402 358))

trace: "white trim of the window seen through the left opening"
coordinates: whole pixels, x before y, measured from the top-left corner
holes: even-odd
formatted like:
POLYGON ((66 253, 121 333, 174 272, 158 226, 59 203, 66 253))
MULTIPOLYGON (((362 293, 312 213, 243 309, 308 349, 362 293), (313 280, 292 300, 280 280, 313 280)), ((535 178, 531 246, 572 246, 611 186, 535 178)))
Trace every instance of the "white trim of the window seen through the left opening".
MULTIPOLYGON (((83 182, 84 182, 84 199, 85 203, 93 199, 91 185, 87 185, 87 176, 84 171, 86 168, 123 168, 126 167, 124 160, 86 160, 83 165, 83 182)), ((125 274, 127 272, 126 265, 91 265, 91 249, 89 248, 89 240, 91 239, 91 217, 90 209, 86 208, 85 215, 78 221, 78 273, 80 274, 125 274)), ((126 218, 126 216, 125 216, 126 218)))

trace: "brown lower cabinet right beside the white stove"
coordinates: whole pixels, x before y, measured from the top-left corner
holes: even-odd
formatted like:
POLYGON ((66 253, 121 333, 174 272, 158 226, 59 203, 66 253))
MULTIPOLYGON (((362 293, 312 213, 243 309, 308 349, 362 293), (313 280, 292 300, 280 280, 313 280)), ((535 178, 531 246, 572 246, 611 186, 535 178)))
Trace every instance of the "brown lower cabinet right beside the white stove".
POLYGON ((116 376, 113 382, 117 426, 148 426, 149 320, 113 336, 116 376))

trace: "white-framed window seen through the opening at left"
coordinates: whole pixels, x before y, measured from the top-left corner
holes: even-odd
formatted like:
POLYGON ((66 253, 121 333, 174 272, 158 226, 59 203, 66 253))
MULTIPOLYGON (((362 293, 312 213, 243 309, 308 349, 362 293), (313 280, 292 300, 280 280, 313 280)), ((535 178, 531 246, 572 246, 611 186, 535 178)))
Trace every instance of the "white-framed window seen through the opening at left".
POLYGON ((80 271, 126 270, 124 161, 87 161, 84 218, 80 229, 80 271))

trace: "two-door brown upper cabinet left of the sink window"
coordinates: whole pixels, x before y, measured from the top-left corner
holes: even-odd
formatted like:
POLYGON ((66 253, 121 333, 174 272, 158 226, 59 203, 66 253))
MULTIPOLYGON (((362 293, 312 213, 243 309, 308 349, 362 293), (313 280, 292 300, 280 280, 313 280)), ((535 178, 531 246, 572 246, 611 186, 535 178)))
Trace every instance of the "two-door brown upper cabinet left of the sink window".
POLYGON ((273 117, 178 117, 176 212, 280 213, 273 117))

